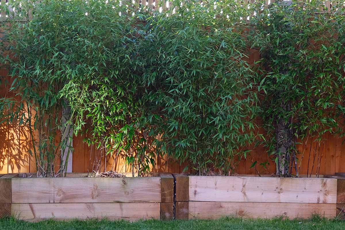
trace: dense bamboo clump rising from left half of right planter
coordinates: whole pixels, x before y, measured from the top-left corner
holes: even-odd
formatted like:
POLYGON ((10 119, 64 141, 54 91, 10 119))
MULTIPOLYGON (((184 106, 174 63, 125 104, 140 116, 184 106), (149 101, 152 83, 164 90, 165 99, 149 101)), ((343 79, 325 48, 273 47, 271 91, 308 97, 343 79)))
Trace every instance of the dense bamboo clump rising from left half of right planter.
POLYGON ((253 72, 241 35, 247 25, 240 22, 246 11, 221 2, 175 11, 150 22, 154 42, 143 76, 155 88, 147 97, 161 118, 157 146, 199 174, 231 173, 255 136, 253 72))

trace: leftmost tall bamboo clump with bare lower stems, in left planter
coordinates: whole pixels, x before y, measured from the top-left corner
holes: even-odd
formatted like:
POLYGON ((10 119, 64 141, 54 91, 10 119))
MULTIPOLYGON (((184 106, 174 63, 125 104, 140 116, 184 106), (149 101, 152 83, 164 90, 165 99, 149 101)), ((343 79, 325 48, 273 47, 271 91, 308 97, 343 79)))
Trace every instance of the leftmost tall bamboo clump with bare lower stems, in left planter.
POLYGON ((68 130, 59 116, 66 105, 58 95, 69 74, 64 62, 68 43, 66 34, 60 33, 65 28, 57 26, 60 15, 49 14, 59 12, 60 7, 53 2, 44 4, 34 9, 32 20, 23 22, 33 12, 32 2, 2 6, 6 20, 1 21, 1 64, 9 69, 10 91, 15 96, 9 112, 18 118, 14 122, 28 125, 30 154, 36 159, 38 176, 44 177, 63 173, 67 163, 61 161, 55 171, 59 151, 67 147, 67 139, 59 141, 57 133, 68 130))

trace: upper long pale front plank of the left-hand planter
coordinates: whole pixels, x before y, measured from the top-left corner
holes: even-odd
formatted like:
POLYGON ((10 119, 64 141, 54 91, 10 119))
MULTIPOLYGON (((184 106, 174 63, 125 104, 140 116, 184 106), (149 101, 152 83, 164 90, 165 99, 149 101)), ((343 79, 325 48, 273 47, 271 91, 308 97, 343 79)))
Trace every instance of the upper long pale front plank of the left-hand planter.
POLYGON ((160 178, 16 178, 12 203, 160 202, 160 178))

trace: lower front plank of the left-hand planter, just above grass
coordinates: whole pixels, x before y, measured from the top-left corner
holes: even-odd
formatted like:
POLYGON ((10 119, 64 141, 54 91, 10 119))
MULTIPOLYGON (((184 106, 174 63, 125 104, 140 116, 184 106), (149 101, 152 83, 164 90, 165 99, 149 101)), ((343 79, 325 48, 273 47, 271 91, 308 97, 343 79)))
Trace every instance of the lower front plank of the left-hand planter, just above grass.
POLYGON ((38 221, 42 219, 109 220, 159 219, 159 203, 56 203, 12 204, 11 214, 18 219, 38 221))

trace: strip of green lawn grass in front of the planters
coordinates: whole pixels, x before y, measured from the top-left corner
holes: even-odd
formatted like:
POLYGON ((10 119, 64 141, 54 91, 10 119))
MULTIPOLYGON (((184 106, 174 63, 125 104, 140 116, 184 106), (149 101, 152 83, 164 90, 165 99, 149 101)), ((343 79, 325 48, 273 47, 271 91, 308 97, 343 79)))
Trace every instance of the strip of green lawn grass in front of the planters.
POLYGON ((246 220, 223 218, 220 220, 146 220, 128 222, 124 220, 87 220, 87 221, 55 221, 47 220, 36 223, 25 222, 14 218, 0 219, 1 230, 345 230, 344 220, 326 220, 312 218, 309 220, 246 220))

